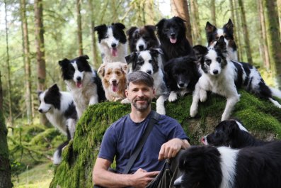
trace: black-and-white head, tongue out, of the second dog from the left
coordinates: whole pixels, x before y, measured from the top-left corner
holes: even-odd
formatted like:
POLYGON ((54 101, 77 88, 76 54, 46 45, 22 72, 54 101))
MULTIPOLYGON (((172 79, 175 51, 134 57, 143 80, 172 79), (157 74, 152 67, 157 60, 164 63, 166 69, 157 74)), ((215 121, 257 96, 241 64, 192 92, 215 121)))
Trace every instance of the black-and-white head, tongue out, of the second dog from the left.
POLYGON ((81 55, 73 60, 64 59, 59 61, 62 70, 62 78, 64 80, 73 80, 76 87, 83 86, 85 72, 92 72, 91 66, 88 64, 88 55, 81 55))

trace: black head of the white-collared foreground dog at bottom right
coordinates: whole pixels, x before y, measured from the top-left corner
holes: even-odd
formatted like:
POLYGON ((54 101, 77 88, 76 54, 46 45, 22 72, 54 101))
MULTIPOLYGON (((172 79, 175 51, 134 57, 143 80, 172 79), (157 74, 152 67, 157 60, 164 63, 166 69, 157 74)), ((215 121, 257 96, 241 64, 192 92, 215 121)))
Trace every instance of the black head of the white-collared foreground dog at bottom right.
POLYGON ((182 188, 216 188, 222 182, 220 153, 212 146, 192 146, 180 156, 182 175, 174 182, 182 188))

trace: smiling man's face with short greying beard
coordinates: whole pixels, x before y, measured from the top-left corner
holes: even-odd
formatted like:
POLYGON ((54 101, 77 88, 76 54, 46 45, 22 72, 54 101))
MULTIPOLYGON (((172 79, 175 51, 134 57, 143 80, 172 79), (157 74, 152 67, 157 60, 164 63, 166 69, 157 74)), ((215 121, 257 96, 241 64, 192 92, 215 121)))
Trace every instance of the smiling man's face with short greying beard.
POLYGON ((143 83, 133 84, 130 82, 129 87, 126 89, 125 94, 129 99, 132 106, 137 111, 145 111, 151 104, 154 98, 155 91, 152 87, 143 83))

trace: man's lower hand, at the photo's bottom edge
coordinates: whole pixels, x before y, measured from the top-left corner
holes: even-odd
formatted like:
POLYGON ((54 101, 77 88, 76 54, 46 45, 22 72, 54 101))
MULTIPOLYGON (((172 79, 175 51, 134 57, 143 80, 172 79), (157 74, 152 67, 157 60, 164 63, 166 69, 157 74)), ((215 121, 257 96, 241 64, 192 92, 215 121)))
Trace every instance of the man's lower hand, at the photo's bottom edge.
POLYGON ((139 168, 134 174, 132 175, 132 187, 136 188, 143 188, 146 187, 149 182, 151 182, 156 175, 159 174, 159 171, 154 172, 147 172, 139 168))

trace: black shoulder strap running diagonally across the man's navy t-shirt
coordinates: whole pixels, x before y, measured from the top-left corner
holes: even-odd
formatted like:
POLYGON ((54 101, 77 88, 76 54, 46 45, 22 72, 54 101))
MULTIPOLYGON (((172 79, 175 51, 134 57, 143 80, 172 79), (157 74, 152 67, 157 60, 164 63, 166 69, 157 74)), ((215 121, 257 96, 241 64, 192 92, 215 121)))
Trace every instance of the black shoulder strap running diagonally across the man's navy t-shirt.
POLYGON ((125 170, 123 174, 127 174, 132 165, 134 164, 134 161, 137 159, 137 156, 139 155, 140 151, 142 150, 142 147, 144 146, 144 143, 147 141, 147 137, 149 136, 149 133, 151 132, 154 124, 159 121, 160 114, 158 114, 156 111, 151 111, 151 118, 149 119, 149 123, 147 125, 147 128, 144 131, 144 135, 142 136, 141 140, 139 140, 139 143, 137 143, 137 147, 134 148, 134 152, 132 153, 125 170))

